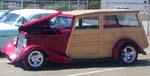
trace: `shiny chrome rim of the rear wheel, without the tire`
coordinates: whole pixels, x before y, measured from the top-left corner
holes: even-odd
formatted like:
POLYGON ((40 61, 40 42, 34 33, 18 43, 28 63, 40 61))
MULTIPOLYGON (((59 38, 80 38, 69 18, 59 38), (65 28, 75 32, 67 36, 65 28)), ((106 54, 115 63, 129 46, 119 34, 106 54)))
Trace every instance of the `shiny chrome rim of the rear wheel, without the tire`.
POLYGON ((132 46, 127 46, 123 49, 122 59, 126 63, 132 63, 136 59, 136 49, 132 46))

